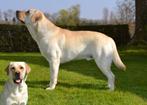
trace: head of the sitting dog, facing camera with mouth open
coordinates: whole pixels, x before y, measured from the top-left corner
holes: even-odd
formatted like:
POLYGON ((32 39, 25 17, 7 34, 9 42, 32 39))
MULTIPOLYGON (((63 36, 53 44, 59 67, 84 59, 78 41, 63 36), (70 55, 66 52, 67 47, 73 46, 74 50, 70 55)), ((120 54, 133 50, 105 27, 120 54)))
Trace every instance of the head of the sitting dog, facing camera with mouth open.
POLYGON ((25 62, 10 62, 6 68, 9 79, 15 84, 21 84, 22 81, 25 81, 30 70, 29 65, 25 62))

